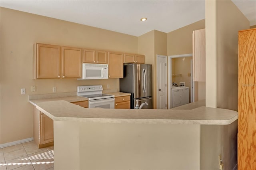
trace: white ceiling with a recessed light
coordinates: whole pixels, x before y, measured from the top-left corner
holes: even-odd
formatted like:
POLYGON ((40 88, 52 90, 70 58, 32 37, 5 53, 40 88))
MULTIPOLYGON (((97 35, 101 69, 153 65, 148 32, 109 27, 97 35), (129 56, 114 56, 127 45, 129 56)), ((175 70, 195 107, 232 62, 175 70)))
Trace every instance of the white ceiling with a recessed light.
MULTIPOLYGON (((256 0, 232 1, 256 25, 256 0)), ((204 0, 0 0, 0 6, 133 36, 168 33, 205 18, 204 0)))

